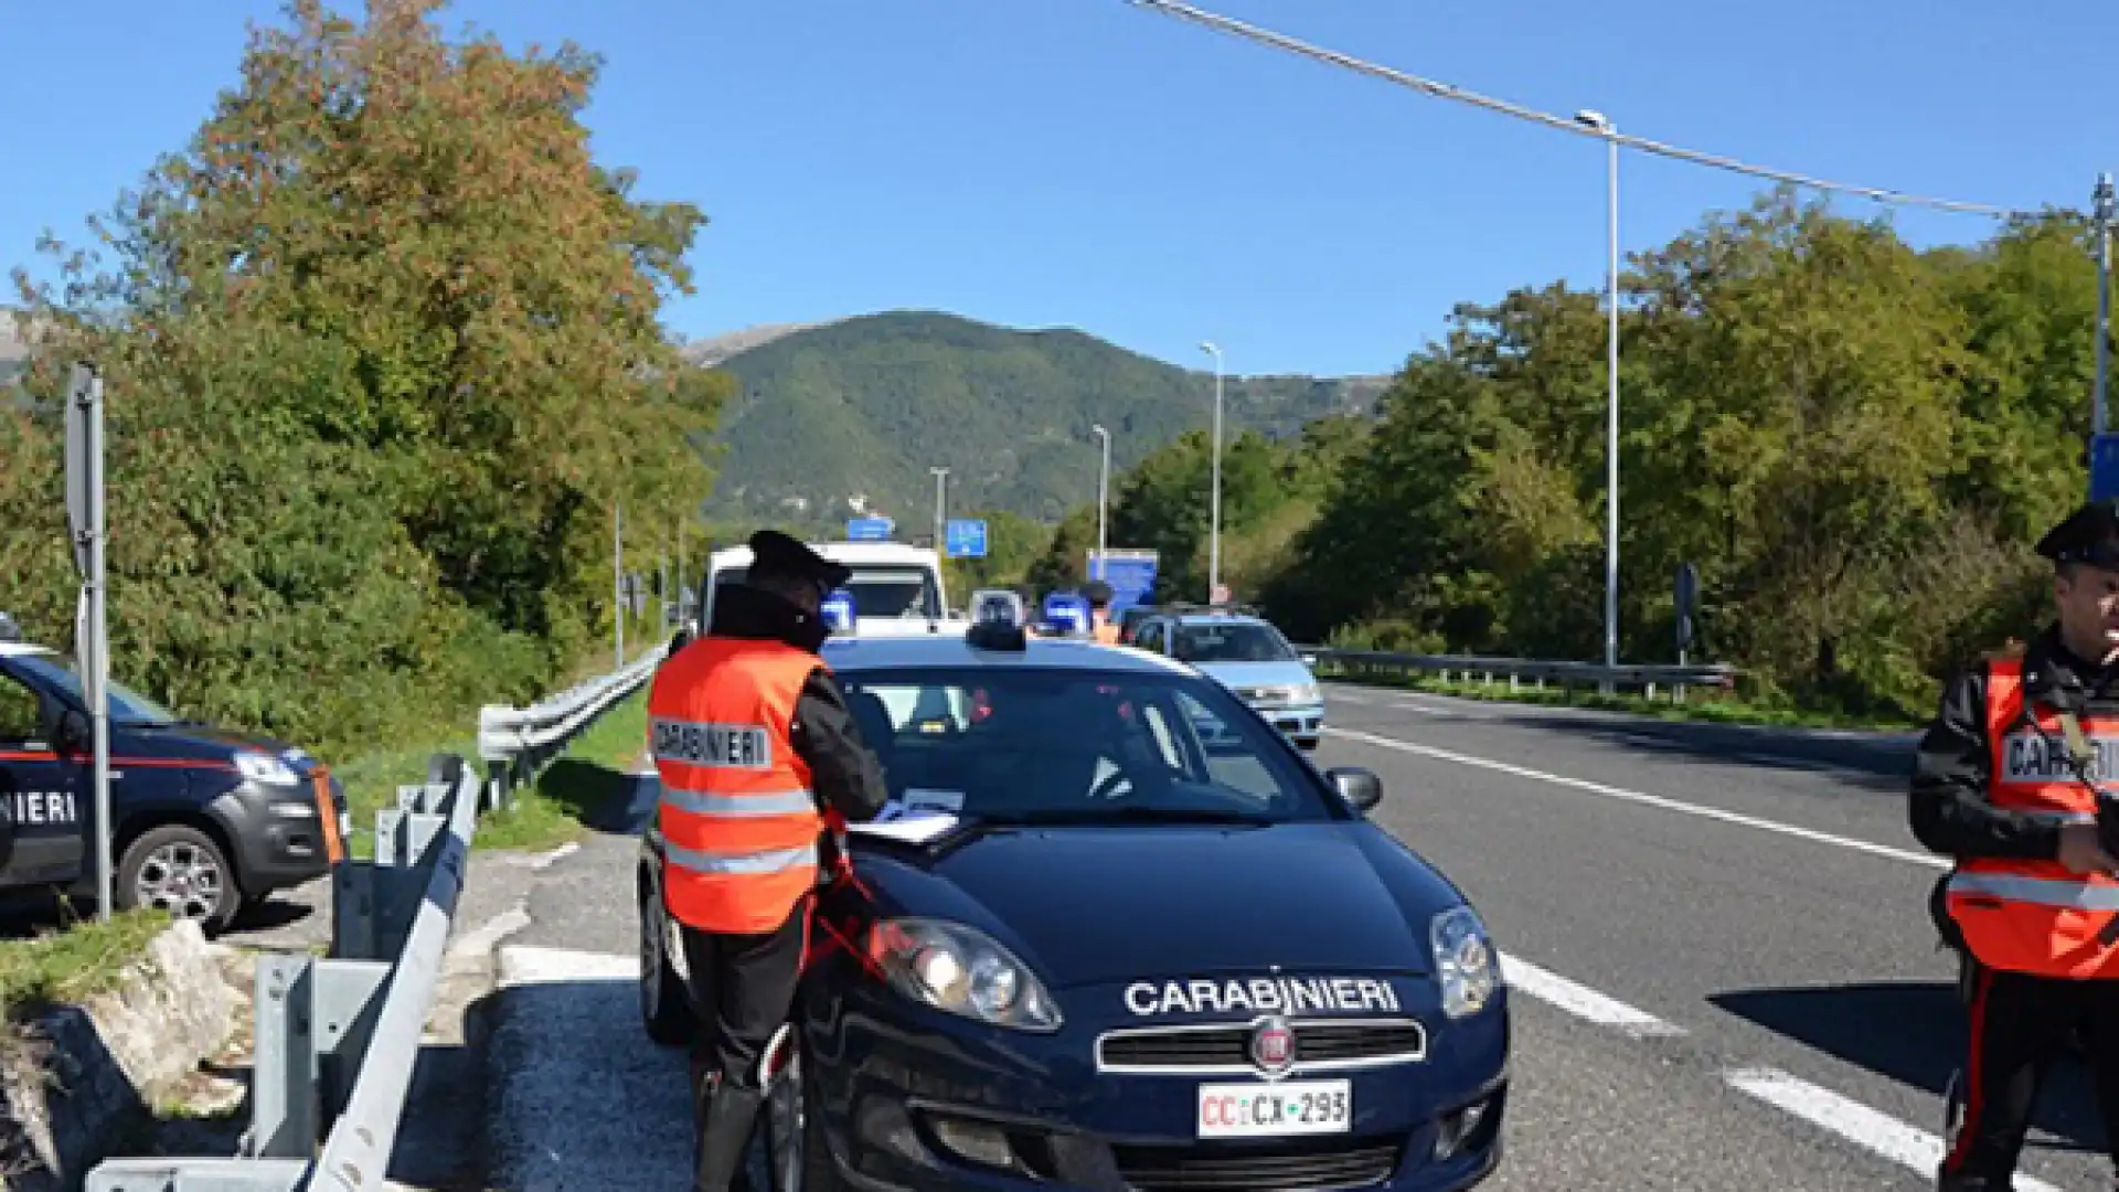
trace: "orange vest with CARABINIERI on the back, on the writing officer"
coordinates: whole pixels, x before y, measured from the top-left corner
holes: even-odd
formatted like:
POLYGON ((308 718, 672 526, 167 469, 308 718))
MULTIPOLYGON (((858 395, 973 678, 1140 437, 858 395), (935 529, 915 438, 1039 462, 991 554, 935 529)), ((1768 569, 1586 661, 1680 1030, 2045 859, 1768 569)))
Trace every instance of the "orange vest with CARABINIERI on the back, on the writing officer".
POLYGON ((663 901, 714 933, 773 931, 816 887, 818 812, 788 728, 814 653, 704 636, 648 691, 661 802, 663 901))

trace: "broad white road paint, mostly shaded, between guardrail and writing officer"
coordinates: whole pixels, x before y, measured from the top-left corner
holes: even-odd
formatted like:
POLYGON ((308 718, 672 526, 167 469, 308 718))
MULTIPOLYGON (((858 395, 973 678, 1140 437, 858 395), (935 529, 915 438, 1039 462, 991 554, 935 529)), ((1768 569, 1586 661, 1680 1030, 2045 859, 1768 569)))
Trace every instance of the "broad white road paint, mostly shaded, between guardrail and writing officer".
POLYGON ((691 1188, 684 1052, 642 1031, 638 971, 629 954, 500 948, 494 1188, 691 1188))

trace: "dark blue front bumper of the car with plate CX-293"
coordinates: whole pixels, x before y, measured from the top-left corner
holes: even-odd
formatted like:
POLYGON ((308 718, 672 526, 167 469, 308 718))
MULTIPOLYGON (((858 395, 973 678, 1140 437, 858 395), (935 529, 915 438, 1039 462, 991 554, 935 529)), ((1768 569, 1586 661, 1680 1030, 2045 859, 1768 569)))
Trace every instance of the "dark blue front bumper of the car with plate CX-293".
POLYGON ((1091 1024, 1023 1035, 873 984, 841 995, 835 1027, 812 1018, 805 1041, 814 1126, 852 1188, 1460 1192, 1500 1162, 1504 1003, 1466 1022, 1422 1014, 1430 1041, 1420 1060, 1280 1080, 1346 1082, 1341 1133, 1201 1139, 1204 1084, 1267 1082, 1098 1071, 1091 1024))

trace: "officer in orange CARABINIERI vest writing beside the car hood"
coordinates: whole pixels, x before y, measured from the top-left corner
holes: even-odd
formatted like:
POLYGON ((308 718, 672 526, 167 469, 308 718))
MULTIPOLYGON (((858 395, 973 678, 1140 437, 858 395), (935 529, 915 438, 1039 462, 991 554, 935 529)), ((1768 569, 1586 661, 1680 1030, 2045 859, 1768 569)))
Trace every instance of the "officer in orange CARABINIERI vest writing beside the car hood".
POLYGON ((776 530, 750 537, 744 583, 648 694, 663 899, 691 999, 695 1192, 735 1184, 763 1103, 763 1050, 788 1020, 822 872, 824 812, 875 819, 890 797, 818 658, 824 596, 850 573, 776 530))

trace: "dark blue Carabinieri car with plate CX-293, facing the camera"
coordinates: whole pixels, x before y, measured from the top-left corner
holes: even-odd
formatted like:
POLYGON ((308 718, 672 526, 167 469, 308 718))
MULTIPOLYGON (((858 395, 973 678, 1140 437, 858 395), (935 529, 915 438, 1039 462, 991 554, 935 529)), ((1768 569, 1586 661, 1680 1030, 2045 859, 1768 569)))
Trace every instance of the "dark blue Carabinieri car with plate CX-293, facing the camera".
MULTIPOLYGON (((773 1188, 1454 1192, 1496 1169, 1498 954, 1365 819, 1375 774, 1320 772, 1151 653, 1007 621, 822 651, 892 804, 841 838, 852 878, 767 1048, 773 1188)), ((674 1046, 697 1020, 659 848, 651 827, 640 1007, 674 1046)))

